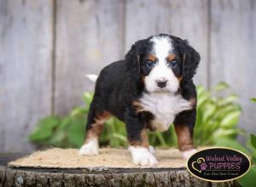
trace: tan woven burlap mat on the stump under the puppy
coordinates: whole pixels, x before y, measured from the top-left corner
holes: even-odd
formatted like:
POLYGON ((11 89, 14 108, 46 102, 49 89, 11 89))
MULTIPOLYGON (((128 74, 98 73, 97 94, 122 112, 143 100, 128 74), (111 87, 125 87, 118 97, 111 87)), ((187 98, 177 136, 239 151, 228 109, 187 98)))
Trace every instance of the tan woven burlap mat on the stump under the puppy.
MULTIPOLYGON (((155 150, 159 163, 154 168, 185 167, 181 153, 177 149, 155 150)), ((76 149, 38 150, 30 156, 9 162, 9 167, 39 167, 39 168, 137 168, 132 163, 129 150, 104 148, 98 156, 79 156, 76 149)), ((147 166, 148 167, 148 166, 147 166)), ((151 166, 152 167, 152 166, 151 166)), ((146 168, 146 167, 143 167, 146 168)))

